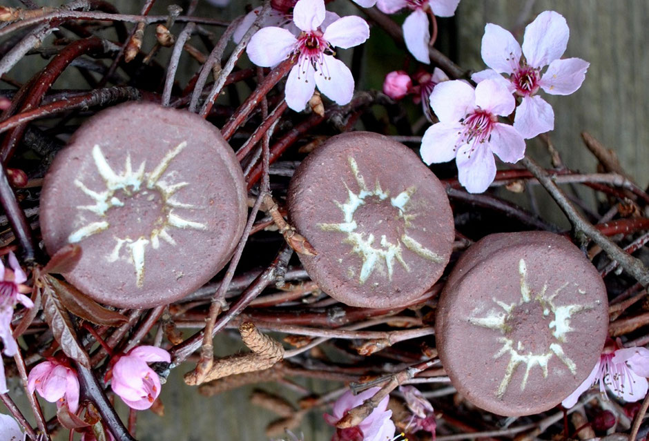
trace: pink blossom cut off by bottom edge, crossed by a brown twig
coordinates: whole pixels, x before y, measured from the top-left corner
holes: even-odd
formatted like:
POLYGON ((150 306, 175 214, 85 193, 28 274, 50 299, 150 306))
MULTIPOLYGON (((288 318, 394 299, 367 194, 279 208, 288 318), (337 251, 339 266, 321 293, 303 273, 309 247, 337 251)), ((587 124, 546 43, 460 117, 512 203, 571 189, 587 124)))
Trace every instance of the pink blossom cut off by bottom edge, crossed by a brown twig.
MULTIPOLYGON (((333 404, 333 415, 324 414, 324 420, 335 426, 336 423, 345 416, 347 411, 362 404, 368 398, 371 398, 379 391, 380 388, 373 387, 363 391, 358 395, 353 395, 351 391, 347 391, 336 400, 333 404)), ((374 411, 369 414, 365 420, 362 420, 356 427, 349 429, 336 429, 331 441, 386 441, 391 440, 395 427, 394 422, 390 420, 392 411, 387 410, 387 402, 389 397, 385 397, 376 406, 374 411)))

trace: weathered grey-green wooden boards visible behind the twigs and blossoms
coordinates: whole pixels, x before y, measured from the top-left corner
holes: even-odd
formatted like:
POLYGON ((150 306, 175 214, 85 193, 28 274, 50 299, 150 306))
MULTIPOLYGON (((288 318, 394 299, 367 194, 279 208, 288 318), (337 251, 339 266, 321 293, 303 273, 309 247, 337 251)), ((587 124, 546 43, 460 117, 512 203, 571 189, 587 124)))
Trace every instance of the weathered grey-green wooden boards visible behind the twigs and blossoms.
MULTIPOLYGON (((17 0, 2 2, 16 6, 17 0)), ((57 5, 59 1, 37 1, 45 5, 57 5)), ((142 1, 115 1, 121 12, 135 13, 142 1)), ((164 14, 171 1, 159 0, 153 13, 164 14)), ((244 10, 245 0, 232 0, 231 5, 218 10, 203 4, 197 14, 212 14, 214 17, 231 18, 244 10)), ((342 0, 336 3, 345 3, 342 0)), ((343 4, 349 12, 353 6, 343 4)), ((522 39, 525 24, 543 10, 556 10, 563 14, 570 26, 570 42, 565 57, 581 57, 590 61, 590 69, 581 89, 568 97, 547 97, 554 106, 555 130, 550 135, 556 148, 563 155, 565 163, 584 172, 595 171, 592 155, 581 142, 583 130, 597 137, 608 148, 617 153, 622 166, 635 177, 640 186, 648 184, 646 170, 649 166, 649 59, 646 56, 646 42, 649 41, 649 2, 645 0, 462 0, 455 19, 457 35, 451 39, 451 46, 463 68, 481 70, 484 65, 480 57, 480 43, 485 23, 497 23, 514 30, 522 39)), ((380 34, 380 30, 374 30, 380 34)), ((151 34, 151 32, 149 32, 151 34)), ((47 44, 48 42, 46 42, 47 44)), ((146 46, 146 45, 145 45, 146 46)), ((150 46, 148 46, 150 47, 150 46)), ((368 48, 367 54, 376 55, 385 47, 376 45, 368 48)), ((382 54, 379 67, 376 61, 367 71, 365 84, 380 86, 382 77, 389 70, 400 68, 403 56, 390 51, 382 54), (392 59, 394 57, 394 60, 392 59), (396 61, 395 61, 396 60, 396 61)), ((179 76, 187 78, 195 72, 197 65, 183 57, 179 76)), ((10 72, 11 77, 25 79, 43 66, 42 59, 30 57, 10 72)), ((73 75, 73 74, 72 74, 73 75)), ((75 77, 67 76, 55 88, 74 84, 75 77)), ((81 84, 81 83, 77 83, 81 84)), ((542 150, 534 142, 534 151, 542 150)), ((552 204, 550 201, 545 201, 552 204)), ((557 211, 549 206, 549 210, 557 211)), ((544 210, 548 211, 548 210, 544 210)), ((561 223, 561 214, 552 216, 561 223)), ((564 224, 565 225, 565 224, 564 224)), ((242 345, 229 335, 217 339, 217 353, 227 355, 242 349, 242 345)), ((243 388, 224 393, 215 398, 203 398, 193 388, 184 386, 181 375, 187 369, 176 369, 168 384, 162 388, 165 418, 153 413, 142 412, 138 418, 139 440, 267 440, 264 427, 275 418, 268 411, 251 406, 247 398, 252 388, 243 388)), ((331 390, 338 384, 304 382, 316 391, 331 390)), ((12 396, 21 409, 28 411, 24 397, 19 396, 17 384, 12 396)), ((262 386, 268 386, 267 384, 262 386)), ((271 389, 285 392, 282 386, 271 389)), ((288 394, 289 397, 294 395, 288 394)), ((54 413, 53 404, 45 403, 48 416, 54 413)), ((124 411, 124 407, 121 408, 124 411)), ((3 409, 0 409, 3 411, 3 409)), ((331 429, 324 426, 320 412, 311 413, 301 427, 304 440, 324 441, 331 437, 331 429)), ((67 439, 67 436, 58 439, 67 439)))

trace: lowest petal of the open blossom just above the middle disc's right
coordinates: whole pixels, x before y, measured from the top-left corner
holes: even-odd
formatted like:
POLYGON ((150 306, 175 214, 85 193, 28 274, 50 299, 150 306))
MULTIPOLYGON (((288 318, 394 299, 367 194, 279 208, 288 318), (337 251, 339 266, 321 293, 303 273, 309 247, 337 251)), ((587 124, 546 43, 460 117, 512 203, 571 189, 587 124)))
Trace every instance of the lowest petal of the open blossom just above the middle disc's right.
POLYGON ((473 151, 472 147, 464 144, 458 149, 458 180, 469 193, 483 193, 496 177, 496 159, 487 146, 478 144, 473 151))

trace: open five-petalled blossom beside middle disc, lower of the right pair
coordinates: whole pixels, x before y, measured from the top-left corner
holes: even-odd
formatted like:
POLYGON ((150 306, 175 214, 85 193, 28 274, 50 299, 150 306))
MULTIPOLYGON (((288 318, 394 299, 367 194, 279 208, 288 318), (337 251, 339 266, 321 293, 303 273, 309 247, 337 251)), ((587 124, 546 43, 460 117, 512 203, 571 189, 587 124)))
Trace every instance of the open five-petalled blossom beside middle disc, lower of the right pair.
POLYGON ((525 139, 498 115, 514 110, 512 94, 500 81, 487 79, 474 89, 463 81, 435 86, 430 106, 439 122, 426 130, 421 157, 426 164, 456 159, 458 179, 469 193, 482 193, 496 176, 494 154, 505 162, 525 155, 525 139))

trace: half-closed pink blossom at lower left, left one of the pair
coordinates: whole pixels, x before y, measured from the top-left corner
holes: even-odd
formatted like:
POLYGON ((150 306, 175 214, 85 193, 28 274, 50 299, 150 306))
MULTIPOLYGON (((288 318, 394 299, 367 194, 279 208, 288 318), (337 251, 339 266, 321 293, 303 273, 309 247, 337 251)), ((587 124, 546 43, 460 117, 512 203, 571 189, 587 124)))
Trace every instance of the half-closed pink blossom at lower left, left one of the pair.
POLYGON ((64 362, 50 359, 37 364, 27 378, 30 393, 37 391, 43 399, 56 403, 57 407, 68 406, 70 412, 79 409, 79 379, 77 372, 64 362))

